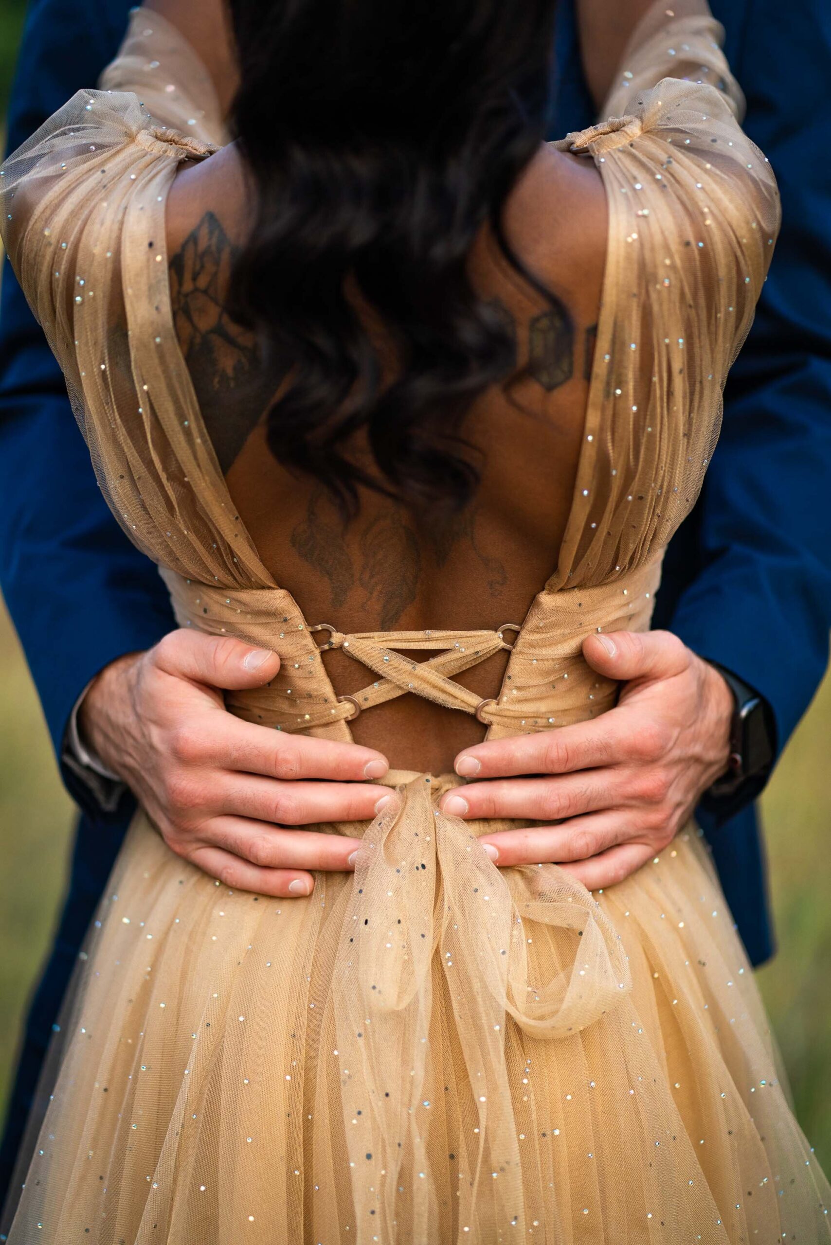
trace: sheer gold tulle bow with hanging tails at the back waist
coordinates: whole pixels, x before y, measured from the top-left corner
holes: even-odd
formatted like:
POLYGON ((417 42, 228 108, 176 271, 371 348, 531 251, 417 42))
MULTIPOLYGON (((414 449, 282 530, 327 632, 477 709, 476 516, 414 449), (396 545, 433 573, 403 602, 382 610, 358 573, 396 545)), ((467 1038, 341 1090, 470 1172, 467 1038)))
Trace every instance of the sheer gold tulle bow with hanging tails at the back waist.
MULTIPOLYGON (((350 1159, 365 1168, 371 1155, 392 1185, 402 1149, 429 1170, 425 1138, 441 1087, 429 1083, 427 1045, 434 1007, 449 1005, 476 1117, 473 1168, 500 1154, 505 1174, 518 1178, 506 1021, 537 1040, 577 1035, 630 991, 627 957, 597 900, 562 869, 500 870, 473 827, 439 812, 453 776, 386 781, 396 799, 359 850, 333 976, 346 1116, 363 1124, 348 1133, 350 1159)), ((503 1182, 508 1200, 512 1184, 503 1182)), ((366 1198, 359 1218, 375 1206, 366 1198)), ((426 1206, 429 1188, 424 1198, 426 1206)), ((391 1214, 386 1203, 379 1209, 391 1214)))

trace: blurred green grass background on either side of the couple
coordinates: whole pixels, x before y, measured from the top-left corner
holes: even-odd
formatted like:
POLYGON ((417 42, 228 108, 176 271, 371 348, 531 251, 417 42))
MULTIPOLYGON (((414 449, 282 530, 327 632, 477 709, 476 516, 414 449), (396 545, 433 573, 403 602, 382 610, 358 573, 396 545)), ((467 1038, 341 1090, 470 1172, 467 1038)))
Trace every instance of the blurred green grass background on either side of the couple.
MULTIPOLYGON (((0 0, 0 118, 24 0, 0 0)), ((1 128, 1 127, 0 127, 1 128)), ((777 654, 771 654, 771 661, 777 654)), ((831 1172, 831 677, 791 740, 762 801, 779 954, 759 982, 800 1123, 831 1172)), ((72 833, 20 645, 0 601, 0 1109, 26 1002, 49 949, 72 833)))

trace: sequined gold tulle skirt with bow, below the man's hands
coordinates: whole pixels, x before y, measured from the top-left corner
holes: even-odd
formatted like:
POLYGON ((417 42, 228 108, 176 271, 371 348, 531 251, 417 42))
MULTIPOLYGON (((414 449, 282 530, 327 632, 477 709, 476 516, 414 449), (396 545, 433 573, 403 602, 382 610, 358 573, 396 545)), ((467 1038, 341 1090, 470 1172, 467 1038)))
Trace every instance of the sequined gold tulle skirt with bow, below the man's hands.
POLYGON ((495 868, 497 823, 436 810, 456 778, 392 782, 355 874, 302 899, 137 815, 12 1245, 829 1240, 695 828, 592 895, 495 868))

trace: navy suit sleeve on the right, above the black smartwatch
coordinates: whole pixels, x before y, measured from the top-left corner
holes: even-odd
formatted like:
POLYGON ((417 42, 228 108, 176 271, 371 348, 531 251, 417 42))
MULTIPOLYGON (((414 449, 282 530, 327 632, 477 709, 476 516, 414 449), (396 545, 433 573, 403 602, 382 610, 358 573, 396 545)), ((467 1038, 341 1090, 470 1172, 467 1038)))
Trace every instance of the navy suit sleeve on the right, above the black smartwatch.
POLYGON ((784 21, 779 0, 751 0, 741 30, 736 7, 713 0, 782 229, 701 498, 668 550, 657 625, 765 696, 781 749, 831 627, 831 5, 801 0, 784 21))

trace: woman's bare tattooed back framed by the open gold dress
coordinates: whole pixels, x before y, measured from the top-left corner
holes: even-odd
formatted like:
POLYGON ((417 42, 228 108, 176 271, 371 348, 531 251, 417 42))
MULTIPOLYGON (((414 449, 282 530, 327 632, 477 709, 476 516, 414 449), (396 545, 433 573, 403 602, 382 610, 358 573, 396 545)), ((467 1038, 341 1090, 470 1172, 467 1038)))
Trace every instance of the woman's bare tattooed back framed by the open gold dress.
MULTIPOLYGON (((224 310, 247 202, 237 152, 224 148, 179 173, 167 233, 177 336, 263 563, 310 621, 339 630, 522 622, 557 565, 583 437, 607 232, 594 166, 541 147, 507 204, 508 240, 552 291, 553 305, 515 273, 488 232, 473 247, 478 293, 498 299, 513 324, 517 374, 468 412, 465 435, 481 451, 481 484, 444 529, 368 489, 358 517, 344 524, 325 489, 289 474, 269 451, 263 416, 279 377, 264 374, 253 341, 224 310)), ((364 667, 343 652, 325 664, 339 693, 366 682, 364 667)), ((458 681, 493 696, 503 667, 497 654, 458 681)), ((483 737, 483 727, 421 697, 401 697, 359 716, 353 736, 385 751, 394 766, 440 773, 483 737)))

